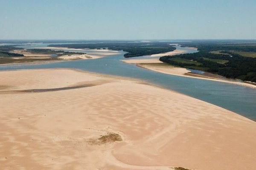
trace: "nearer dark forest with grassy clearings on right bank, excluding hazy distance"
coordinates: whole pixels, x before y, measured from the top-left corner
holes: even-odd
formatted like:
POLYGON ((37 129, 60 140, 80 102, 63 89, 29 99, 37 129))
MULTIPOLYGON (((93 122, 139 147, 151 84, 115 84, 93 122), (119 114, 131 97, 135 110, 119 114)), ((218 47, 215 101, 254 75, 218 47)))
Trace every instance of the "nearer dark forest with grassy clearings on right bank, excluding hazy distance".
POLYGON ((211 54, 199 51, 192 54, 160 57, 160 61, 183 68, 198 69, 227 78, 256 82, 256 58, 238 54, 211 54))

